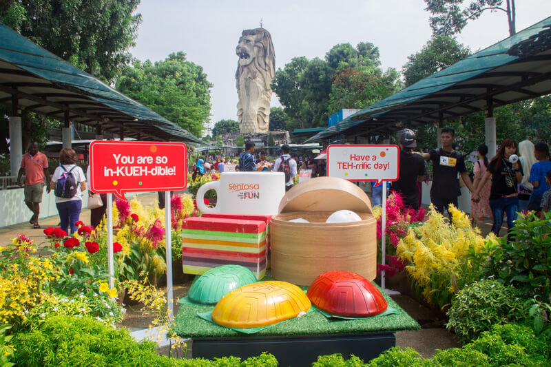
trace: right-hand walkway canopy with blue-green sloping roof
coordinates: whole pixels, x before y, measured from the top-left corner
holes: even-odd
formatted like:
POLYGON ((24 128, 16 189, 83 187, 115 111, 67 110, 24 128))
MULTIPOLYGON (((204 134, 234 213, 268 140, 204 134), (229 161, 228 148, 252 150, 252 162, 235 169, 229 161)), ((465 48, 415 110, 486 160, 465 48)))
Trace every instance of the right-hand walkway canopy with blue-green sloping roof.
POLYGON ((379 101, 306 142, 376 136, 551 93, 551 17, 379 101))

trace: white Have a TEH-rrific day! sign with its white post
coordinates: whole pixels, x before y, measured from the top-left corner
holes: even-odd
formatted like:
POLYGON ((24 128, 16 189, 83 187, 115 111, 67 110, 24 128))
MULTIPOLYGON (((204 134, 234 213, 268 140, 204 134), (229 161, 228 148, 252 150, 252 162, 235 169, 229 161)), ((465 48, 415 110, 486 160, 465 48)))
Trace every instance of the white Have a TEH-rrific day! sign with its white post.
MULTIPOLYGON (((399 178, 400 150, 397 145, 329 145, 327 176, 349 181, 375 181, 382 185, 381 264, 386 257, 386 181, 399 178)), ((381 270, 381 288, 389 295, 399 292, 386 289, 385 271, 381 270)))

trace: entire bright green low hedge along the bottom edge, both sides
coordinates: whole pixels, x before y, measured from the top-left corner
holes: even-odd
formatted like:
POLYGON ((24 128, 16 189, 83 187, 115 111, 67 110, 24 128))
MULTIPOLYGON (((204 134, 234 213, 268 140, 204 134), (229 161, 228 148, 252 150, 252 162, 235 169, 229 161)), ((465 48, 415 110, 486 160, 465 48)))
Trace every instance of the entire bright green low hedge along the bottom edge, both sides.
MULTIPOLYGON (((174 359, 156 355, 152 342, 136 342, 127 331, 110 328, 95 319, 55 316, 34 331, 12 339, 16 366, 184 366, 275 367, 273 355, 241 361, 237 357, 174 359)), ((437 350, 423 359, 411 348, 391 348, 365 364, 352 356, 325 355, 313 367, 415 367, 415 366, 550 366, 550 339, 514 324, 497 325, 463 348, 437 350)))

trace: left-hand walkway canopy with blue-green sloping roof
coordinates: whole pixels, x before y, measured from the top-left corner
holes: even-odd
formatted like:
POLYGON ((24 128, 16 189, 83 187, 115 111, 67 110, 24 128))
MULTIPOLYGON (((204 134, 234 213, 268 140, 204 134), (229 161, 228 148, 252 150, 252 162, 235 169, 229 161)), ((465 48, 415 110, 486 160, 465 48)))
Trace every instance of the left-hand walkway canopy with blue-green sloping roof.
POLYGON ((205 144, 0 23, 0 104, 132 138, 205 144))

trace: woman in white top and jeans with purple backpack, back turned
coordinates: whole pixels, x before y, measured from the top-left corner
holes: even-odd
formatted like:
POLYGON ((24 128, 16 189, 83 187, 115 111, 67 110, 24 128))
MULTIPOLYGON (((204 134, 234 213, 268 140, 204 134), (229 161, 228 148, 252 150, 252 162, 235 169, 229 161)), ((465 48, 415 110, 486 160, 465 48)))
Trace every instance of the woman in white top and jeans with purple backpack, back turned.
POLYGON ((61 164, 56 168, 54 176, 52 176, 51 185, 56 195, 56 207, 61 220, 61 229, 67 232, 67 234, 78 230, 75 223, 79 221, 82 209, 82 193, 86 191, 86 177, 82 168, 76 165, 77 158, 76 151, 73 149, 61 149, 59 152, 61 164), (57 182, 60 179, 63 180, 63 174, 72 176, 72 180, 76 183, 76 191, 71 197, 67 197, 67 193, 71 191, 70 187, 67 186, 65 189, 58 187, 56 189, 57 182))

